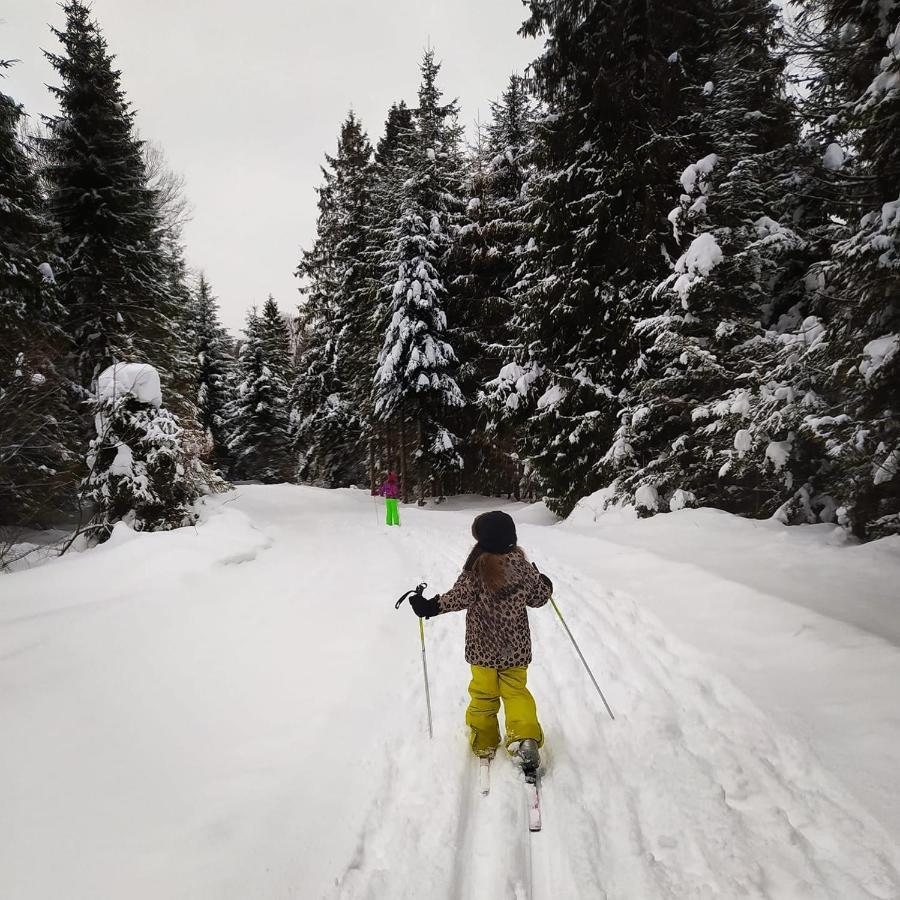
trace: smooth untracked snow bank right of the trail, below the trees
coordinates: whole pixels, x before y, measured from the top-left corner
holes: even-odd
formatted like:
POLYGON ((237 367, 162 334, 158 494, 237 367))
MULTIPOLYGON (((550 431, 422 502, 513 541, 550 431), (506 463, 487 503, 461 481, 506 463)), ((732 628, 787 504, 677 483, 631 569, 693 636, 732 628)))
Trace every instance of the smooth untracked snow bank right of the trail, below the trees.
POLYGON ((553 552, 593 554, 583 577, 639 596, 809 741, 900 840, 900 795, 884 790, 900 741, 900 538, 860 545, 833 525, 709 508, 638 519, 609 499, 581 501, 553 529, 553 552))

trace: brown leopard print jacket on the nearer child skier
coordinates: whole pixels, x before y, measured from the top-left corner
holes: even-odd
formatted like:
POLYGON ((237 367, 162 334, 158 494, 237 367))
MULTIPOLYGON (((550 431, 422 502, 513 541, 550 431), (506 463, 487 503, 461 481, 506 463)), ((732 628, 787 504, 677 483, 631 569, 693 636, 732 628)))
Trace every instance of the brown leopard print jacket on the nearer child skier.
POLYGON ((456 584, 438 598, 441 613, 466 610, 466 662, 489 669, 510 669, 531 662, 527 607, 544 606, 553 585, 521 550, 506 554, 506 584, 490 592, 475 567, 473 551, 456 584))

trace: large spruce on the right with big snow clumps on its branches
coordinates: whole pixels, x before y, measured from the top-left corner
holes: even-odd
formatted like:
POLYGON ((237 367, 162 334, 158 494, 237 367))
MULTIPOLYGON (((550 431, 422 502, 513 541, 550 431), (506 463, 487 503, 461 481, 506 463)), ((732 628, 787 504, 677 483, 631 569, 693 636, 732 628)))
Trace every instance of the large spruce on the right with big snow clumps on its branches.
POLYGON ((809 160, 776 11, 722 0, 715 13, 709 80, 685 88, 708 152, 682 173, 669 215, 682 253, 634 327, 639 355, 606 480, 618 477, 644 513, 700 503, 771 515, 815 465, 799 429, 805 350, 793 332, 807 318, 818 210, 802 196, 809 160))

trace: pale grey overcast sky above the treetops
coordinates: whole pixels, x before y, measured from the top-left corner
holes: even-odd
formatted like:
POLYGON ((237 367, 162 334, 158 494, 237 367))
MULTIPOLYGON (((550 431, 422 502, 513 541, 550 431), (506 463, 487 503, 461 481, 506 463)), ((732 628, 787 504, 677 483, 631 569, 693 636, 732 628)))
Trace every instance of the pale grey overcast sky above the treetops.
MULTIPOLYGON (((390 104, 412 105, 431 41, 439 85, 462 121, 487 118, 509 73, 537 54, 516 32, 521 0, 94 0, 143 137, 187 181, 188 259, 205 269, 222 318, 240 328, 269 293, 297 304, 293 277, 315 234, 319 166, 352 106, 374 144, 390 104)), ((53 112, 56 0, 2 0, 0 58, 21 62, 3 90, 53 112)))

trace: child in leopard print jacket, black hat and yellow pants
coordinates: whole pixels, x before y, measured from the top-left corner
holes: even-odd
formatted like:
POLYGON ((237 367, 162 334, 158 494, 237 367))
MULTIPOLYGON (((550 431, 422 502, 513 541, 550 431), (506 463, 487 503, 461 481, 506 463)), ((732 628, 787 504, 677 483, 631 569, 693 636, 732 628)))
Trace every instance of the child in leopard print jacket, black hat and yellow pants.
POLYGON ((494 755, 502 699, 507 750, 534 771, 544 735, 525 686, 531 662, 527 607, 544 606, 553 585, 517 546, 515 523, 505 512, 478 516, 472 536, 477 543, 456 584, 446 594, 413 596, 410 603, 419 617, 466 610, 466 662, 472 667, 466 724, 472 750, 488 759, 494 755))

